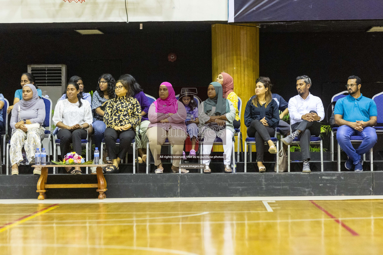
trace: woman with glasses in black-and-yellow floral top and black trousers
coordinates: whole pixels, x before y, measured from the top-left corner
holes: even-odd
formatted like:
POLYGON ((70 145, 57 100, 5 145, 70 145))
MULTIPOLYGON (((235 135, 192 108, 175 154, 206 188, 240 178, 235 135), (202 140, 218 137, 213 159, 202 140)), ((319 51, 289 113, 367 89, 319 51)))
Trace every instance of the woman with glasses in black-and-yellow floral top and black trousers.
POLYGON ((116 98, 108 101, 104 114, 105 144, 109 158, 113 161, 112 166, 105 169, 106 174, 119 172, 118 164, 128 152, 128 148, 136 136, 136 126, 141 122, 141 106, 133 97, 133 91, 129 91, 128 83, 118 80, 115 91, 116 98), (116 149, 117 139, 120 140, 119 151, 116 149))

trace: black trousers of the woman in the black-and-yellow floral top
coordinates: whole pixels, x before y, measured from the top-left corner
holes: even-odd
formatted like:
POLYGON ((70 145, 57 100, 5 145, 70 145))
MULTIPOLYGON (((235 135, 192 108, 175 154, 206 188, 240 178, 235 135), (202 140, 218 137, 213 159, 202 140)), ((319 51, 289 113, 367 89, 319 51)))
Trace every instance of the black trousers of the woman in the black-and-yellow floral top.
POLYGON ((109 158, 124 159, 132 140, 136 136, 136 131, 131 129, 126 131, 116 131, 113 128, 106 128, 104 133, 105 145, 108 150, 109 158), (119 138, 119 151, 117 150, 116 140, 119 138))

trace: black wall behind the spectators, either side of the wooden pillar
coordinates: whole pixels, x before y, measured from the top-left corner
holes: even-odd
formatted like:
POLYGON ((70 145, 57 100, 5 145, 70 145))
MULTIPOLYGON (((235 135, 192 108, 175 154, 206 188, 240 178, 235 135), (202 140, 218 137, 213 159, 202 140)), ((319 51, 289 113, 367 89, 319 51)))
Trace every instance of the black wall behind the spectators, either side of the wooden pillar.
MULTIPOLYGON (((210 26, 206 31, 172 33, 0 35, 0 93, 10 102, 21 88, 20 75, 28 64, 66 64, 68 78, 81 76, 86 92, 95 90, 102 73, 111 73, 116 80, 130 73, 145 93, 156 98, 163 81, 176 86, 176 94, 182 87, 206 87, 211 82, 210 26), (168 61, 169 52, 177 54, 175 62, 168 61)), ((296 95, 295 77, 310 76, 311 93, 321 97, 326 108, 331 97, 344 90, 350 75, 362 79, 365 96, 383 91, 381 45, 379 32, 261 32, 259 74, 270 77, 272 91, 286 101, 296 95)), ((255 88, 255 81, 249 85, 255 88)))

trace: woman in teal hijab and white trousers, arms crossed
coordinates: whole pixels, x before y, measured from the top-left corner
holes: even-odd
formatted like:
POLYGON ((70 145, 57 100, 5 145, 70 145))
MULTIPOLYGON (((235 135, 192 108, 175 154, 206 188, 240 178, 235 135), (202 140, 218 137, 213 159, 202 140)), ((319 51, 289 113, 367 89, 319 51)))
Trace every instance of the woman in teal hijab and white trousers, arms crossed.
MULTIPOLYGON (((214 81, 208 87, 208 99, 201 102, 198 108, 200 132, 202 134, 203 155, 210 155, 214 140, 219 137, 223 141, 225 172, 231 173, 231 153, 234 138, 233 120, 236 110, 232 102, 223 98, 222 85, 214 81), (210 125, 209 125, 210 124, 210 125), (216 126, 216 127, 211 127, 216 126)), ((210 159, 203 159, 204 173, 210 173, 210 159)))

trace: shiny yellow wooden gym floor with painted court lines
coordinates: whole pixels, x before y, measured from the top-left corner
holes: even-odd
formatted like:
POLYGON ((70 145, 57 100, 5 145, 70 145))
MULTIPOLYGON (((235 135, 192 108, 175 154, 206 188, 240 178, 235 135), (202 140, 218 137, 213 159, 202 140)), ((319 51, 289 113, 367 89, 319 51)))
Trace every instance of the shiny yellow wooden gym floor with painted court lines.
POLYGON ((0 204, 0 255, 383 254, 383 200, 0 204))

